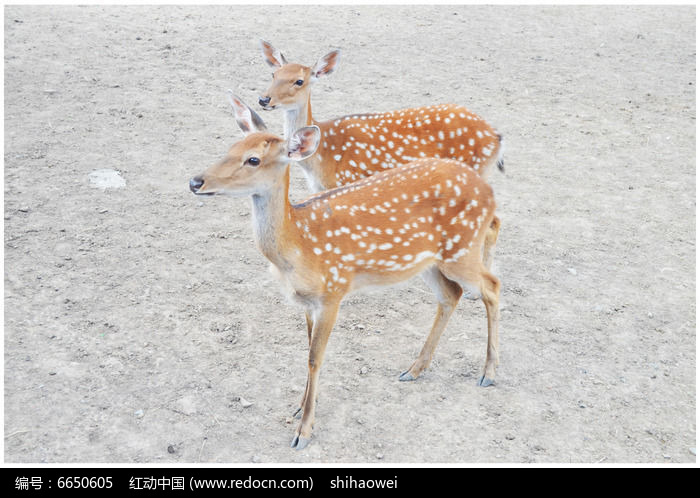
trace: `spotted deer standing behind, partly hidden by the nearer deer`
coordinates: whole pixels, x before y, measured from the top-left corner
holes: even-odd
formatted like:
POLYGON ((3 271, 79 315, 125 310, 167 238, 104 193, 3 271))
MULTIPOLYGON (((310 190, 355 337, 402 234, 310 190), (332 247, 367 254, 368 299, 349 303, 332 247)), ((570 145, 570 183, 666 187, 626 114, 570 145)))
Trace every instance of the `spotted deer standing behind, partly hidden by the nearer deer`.
POLYGON ((415 159, 456 159, 488 178, 493 166, 503 170, 503 144, 486 121, 455 104, 432 105, 373 114, 353 114, 318 122, 311 114, 311 88, 332 73, 340 51, 314 67, 289 63, 268 42, 263 58, 274 68, 272 85, 260 97, 265 110, 284 110, 284 136, 316 125, 321 141, 316 154, 300 161, 312 192, 340 187, 415 159))

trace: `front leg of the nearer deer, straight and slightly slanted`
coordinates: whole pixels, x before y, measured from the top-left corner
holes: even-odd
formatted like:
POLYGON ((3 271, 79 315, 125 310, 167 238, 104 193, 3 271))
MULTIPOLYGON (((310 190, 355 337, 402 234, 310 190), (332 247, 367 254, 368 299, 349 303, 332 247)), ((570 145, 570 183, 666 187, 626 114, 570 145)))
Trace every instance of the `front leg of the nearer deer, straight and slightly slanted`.
POLYGON ((316 396, 318 395, 318 377, 321 372, 323 355, 326 351, 328 338, 338 316, 339 302, 324 303, 315 320, 309 344, 309 374, 307 377, 306 393, 303 399, 301 422, 297 427, 291 447, 301 450, 311 441, 314 415, 316 411, 316 396))

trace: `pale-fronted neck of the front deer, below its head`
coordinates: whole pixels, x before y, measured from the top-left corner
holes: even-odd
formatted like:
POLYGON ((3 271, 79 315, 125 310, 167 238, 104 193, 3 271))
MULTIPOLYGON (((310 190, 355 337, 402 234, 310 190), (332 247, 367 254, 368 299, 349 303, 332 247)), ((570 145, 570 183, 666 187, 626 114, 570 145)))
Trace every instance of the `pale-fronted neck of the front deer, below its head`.
POLYGON ((260 252, 281 270, 291 267, 287 255, 294 249, 296 227, 289 203, 289 166, 273 188, 253 194, 253 231, 260 252))

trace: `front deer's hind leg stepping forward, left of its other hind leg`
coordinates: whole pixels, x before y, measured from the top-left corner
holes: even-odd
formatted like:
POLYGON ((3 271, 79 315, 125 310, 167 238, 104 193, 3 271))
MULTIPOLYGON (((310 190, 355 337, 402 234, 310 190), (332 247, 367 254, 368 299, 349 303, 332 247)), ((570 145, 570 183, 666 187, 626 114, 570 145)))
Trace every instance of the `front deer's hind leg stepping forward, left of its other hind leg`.
POLYGON ((462 288, 455 282, 445 278, 435 266, 425 270, 421 276, 437 296, 438 310, 435 315, 435 321, 433 322, 433 328, 430 330, 430 334, 423 345, 423 349, 421 349, 418 358, 413 362, 411 368, 401 374, 399 377, 401 381, 416 380, 420 373, 428 368, 437 343, 440 340, 440 336, 445 330, 447 322, 462 295, 462 288))

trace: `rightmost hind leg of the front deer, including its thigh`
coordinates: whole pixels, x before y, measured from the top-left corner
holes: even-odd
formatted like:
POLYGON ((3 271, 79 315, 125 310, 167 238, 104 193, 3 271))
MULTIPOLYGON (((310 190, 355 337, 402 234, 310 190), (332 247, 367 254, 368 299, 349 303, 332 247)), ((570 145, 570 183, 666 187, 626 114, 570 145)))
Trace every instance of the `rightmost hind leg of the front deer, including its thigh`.
POLYGON ((478 259, 465 256, 458 262, 443 264, 440 271, 468 291, 471 297, 481 300, 486 307, 488 323, 488 342, 486 346, 486 364, 477 385, 490 386, 496 379, 498 366, 498 302, 501 293, 501 283, 478 259))

